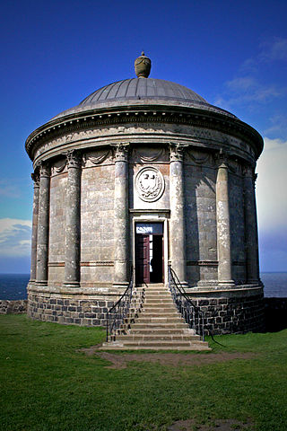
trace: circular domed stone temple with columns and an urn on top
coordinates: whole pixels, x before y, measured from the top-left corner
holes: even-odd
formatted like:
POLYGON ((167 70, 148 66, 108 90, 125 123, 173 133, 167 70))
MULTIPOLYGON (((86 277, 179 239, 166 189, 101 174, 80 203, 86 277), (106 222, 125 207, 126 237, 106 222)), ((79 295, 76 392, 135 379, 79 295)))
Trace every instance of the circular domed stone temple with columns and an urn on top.
POLYGON ((214 333, 260 330, 254 128, 187 87, 106 85, 26 141, 34 202, 28 313, 105 325, 125 292, 169 266, 214 333))

